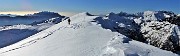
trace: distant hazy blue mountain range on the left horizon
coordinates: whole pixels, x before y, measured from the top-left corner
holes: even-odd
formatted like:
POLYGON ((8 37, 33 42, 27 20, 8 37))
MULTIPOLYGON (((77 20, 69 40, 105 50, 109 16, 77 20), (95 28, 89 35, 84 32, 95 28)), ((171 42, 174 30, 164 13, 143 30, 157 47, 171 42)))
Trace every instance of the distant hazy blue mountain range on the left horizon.
POLYGON ((11 15, 11 14, 1 14, 0 15, 0 26, 3 25, 15 25, 15 24, 31 24, 32 22, 39 22, 42 20, 47 20, 55 17, 65 17, 61 16, 55 12, 42 11, 34 14, 27 15, 11 15))

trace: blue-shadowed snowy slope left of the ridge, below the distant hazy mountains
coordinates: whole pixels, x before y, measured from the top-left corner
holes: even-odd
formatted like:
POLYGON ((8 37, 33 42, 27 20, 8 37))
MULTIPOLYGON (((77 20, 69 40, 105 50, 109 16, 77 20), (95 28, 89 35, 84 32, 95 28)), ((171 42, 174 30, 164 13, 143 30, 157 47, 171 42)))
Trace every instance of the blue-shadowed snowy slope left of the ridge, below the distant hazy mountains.
POLYGON ((31 25, 12 25, 0 27, 0 48, 14 44, 22 39, 34 35, 42 30, 45 30, 56 23, 61 22, 62 18, 51 18, 39 23, 31 25))

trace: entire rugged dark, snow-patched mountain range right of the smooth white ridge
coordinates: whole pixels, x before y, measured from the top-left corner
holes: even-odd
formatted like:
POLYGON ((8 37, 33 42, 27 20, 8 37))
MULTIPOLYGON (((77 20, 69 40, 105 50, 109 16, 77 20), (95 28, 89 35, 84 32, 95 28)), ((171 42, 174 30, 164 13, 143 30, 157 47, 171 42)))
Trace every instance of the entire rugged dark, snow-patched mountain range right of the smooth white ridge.
POLYGON ((111 12, 95 22, 131 39, 175 53, 180 51, 180 16, 171 11, 111 12))

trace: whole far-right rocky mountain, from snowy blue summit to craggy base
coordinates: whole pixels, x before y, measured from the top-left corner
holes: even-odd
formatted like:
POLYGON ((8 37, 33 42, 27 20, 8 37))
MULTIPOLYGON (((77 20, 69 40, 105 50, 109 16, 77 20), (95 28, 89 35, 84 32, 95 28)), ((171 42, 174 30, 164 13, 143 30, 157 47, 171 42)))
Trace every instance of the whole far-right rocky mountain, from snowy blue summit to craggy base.
POLYGON ((168 11, 144 12, 141 33, 147 43, 169 51, 179 51, 179 22, 174 13, 168 11))

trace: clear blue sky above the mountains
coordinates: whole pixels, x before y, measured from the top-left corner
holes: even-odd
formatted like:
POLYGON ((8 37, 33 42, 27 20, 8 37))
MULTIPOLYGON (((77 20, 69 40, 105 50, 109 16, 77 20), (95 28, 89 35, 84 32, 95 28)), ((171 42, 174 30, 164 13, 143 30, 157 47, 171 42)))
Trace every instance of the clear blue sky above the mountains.
POLYGON ((141 12, 169 10, 180 13, 180 0, 0 0, 0 11, 141 12))

